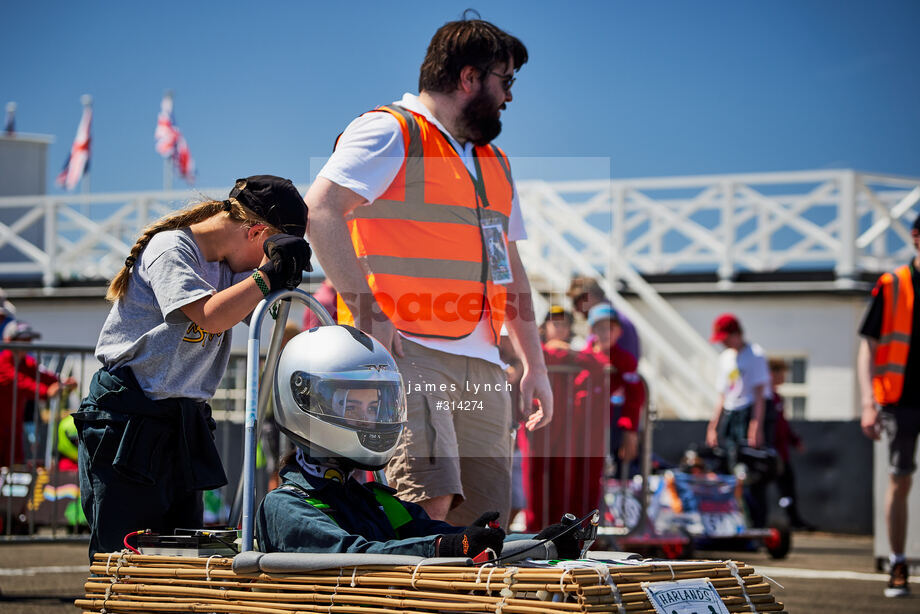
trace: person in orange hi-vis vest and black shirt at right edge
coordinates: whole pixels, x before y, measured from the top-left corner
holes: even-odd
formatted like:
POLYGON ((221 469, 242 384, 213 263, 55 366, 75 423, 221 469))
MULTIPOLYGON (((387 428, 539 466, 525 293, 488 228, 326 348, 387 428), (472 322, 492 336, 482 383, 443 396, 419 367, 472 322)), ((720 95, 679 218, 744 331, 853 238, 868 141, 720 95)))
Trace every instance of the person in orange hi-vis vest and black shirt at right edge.
POLYGON ((856 359, 862 392, 862 429, 876 440, 888 440, 888 525, 891 578, 886 597, 910 594, 904 546, 907 542, 907 501, 917 470, 920 435, 920 325, 914 308, 920 278, 920 216, 914 220, 911 239, 916 254, 910 263, 882 275, 872 290, 863 318, 856 359))

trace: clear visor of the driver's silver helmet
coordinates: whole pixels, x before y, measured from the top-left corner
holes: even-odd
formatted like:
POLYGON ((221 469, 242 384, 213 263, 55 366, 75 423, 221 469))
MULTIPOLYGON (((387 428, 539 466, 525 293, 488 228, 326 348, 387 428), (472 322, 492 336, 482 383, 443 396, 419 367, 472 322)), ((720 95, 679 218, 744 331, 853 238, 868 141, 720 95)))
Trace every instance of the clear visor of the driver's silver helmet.
POLYGON ((295 371, 291 393, 303 411, 342 426, 386 430, 406 421, 402 378, 393 371, 295 371))

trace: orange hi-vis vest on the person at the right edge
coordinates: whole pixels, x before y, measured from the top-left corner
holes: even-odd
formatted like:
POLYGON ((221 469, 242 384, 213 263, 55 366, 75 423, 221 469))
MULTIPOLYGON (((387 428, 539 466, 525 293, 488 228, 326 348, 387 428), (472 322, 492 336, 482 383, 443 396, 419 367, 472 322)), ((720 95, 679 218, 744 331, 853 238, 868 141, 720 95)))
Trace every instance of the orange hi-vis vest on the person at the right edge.
POLYGON ((898 267, 894 273, 885 273, 878 283, 884 293, 885 310, 875 352, 872 390, 880 405, 893 405, 901 400, 907 354, 910 351, 914 317, 914 284, 910 266, 898 267))

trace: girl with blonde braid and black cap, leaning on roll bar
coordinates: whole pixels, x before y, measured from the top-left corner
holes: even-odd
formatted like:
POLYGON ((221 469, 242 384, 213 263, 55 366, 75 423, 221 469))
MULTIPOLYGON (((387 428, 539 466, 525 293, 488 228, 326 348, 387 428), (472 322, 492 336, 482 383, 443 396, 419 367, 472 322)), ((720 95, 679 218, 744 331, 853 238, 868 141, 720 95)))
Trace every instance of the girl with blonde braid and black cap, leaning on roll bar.
POLYGON ((294 184, 257 175, 153 223, 131 249, 106 295, 103 367, 74 414, 91 561, 132 531, 201 526, 199 491, 227 483, 208 401, 230 329, 270 290, 300 283, 306 224, 294 184))

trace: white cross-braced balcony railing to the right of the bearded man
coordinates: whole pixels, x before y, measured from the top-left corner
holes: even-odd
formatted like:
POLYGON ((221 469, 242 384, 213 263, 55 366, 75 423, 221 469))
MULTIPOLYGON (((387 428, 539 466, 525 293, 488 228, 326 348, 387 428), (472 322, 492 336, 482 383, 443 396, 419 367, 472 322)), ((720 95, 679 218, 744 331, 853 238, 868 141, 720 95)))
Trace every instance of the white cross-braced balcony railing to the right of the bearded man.
POLYGON ((920 178, 851 170, 521 182, 519 189, 528 205, 564 204, 565 216, 553 223, 600 270, 610 265, 603 236, 642 274, 715 271, 725 282, 741 272, 808 268, 833 270, 845 285, 860 271, 886 270, 913 254, 920 200, 920 178), (593 231, 573 228, 579 221, 593 231))

